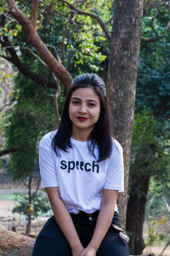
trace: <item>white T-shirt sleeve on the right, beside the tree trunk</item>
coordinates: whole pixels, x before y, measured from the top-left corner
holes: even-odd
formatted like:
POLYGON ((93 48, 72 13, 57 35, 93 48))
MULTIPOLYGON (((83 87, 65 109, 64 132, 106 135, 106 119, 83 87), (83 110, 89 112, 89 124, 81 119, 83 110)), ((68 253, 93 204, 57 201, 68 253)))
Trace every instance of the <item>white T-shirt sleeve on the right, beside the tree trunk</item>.
POLYGON ((104 189, 124 191, 124 164, 122 146, 114 139, 111 156, 108 160, 104 189))

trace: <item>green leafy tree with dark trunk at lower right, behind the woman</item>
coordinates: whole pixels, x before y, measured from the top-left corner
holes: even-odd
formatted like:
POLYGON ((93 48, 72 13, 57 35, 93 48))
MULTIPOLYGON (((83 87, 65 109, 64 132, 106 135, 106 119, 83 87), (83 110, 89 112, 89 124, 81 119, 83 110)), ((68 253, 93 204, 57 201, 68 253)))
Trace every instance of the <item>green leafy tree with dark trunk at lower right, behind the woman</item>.
POLYGON ((144 209, 150 185, 150 177, 163 183, 170 182, 168 174, 169 128, 166 120, 157 121, 144 110, 136 113, 130 168, 129 199, 127 203, 127 232, 131 253, 140 255, 144 249, 144 209))

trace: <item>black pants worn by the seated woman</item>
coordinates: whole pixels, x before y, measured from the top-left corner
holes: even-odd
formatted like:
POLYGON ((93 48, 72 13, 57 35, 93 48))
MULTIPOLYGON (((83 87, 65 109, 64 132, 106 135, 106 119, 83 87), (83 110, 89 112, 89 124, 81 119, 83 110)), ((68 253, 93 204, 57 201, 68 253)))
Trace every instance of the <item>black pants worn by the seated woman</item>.
MULTIPOLYGON (((91 241, 98 214, 99 212, 94 212, 91 217, 85 212, 80 212, 77 215, 71 214, 83 247, 87 247, 89 241, 91 241)), ((120 225, 117 212, 115 212, 111 224, 120 225)), ((127 242, 123 241, 119 236, 119 232, 110 226, 96 255, 129 256, 127 242)), ((32 256, 71 256, 71 247, 59 229, 54 217, 48 219, 48 222, 37 236, 32 256)))

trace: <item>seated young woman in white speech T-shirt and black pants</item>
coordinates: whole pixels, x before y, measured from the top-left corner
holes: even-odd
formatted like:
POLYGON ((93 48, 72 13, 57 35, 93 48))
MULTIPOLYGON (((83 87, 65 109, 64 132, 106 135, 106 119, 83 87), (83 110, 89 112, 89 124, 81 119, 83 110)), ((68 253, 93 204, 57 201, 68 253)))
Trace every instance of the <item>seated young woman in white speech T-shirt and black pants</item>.
POLYGON ((128 256, 116 207, 122 147, 111 138, 105 83, 97 74, 74 79, 59 130, 42 137, 39 164, 54 217, 32 256, 128 256))

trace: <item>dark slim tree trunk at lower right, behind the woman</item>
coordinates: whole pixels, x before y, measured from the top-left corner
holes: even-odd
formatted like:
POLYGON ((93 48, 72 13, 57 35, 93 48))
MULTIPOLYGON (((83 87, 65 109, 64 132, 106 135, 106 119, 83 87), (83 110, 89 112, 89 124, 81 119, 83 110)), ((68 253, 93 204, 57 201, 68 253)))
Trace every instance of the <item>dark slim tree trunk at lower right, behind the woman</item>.
POLYGON ((150 184, 150 175, 133 173, 132 180, 127 204, 127 232, 130 236, 130 253, 140 255, 144 249, 144 209, 150 184))

